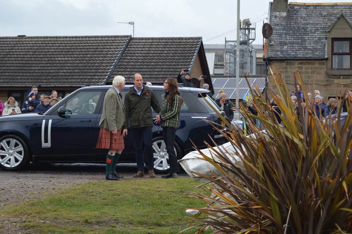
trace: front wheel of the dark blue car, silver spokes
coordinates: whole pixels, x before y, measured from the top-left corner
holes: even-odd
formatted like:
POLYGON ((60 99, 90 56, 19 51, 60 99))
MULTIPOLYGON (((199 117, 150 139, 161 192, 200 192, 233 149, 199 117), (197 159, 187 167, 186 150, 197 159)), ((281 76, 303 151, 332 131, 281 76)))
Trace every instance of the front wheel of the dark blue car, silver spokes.
POLYGON ((27 144, 15 135, 0 138, 0 168, 4 171, 18 171, 29 163, 27 144))

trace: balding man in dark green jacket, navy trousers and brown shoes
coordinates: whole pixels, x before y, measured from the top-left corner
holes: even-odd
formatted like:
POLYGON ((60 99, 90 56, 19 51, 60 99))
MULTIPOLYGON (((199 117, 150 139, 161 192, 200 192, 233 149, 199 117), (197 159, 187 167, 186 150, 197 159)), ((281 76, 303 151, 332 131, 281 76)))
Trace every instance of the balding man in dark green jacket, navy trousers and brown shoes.
MULTIPOLYGON (((128 90, 125 95, 125 124, 130 119, 130 128, 133 135, 133 145, 136 150, 136 162, 138 172, 133 177, 144 177, 144 157, 142 142, 144 142, 146 152, 145 165, 148 169, 150 178, 155 178, 154 173, 154 156, 152 147, 152 127, 153 116, 152 109, 156 113, 161 111, 159 102, 154 94, 154 91, 143 85, 143 78, 140 74, 133 76, 134 86, 128 90)), ((127 129, 124 130, 124 135, 127 135, 127 129)))

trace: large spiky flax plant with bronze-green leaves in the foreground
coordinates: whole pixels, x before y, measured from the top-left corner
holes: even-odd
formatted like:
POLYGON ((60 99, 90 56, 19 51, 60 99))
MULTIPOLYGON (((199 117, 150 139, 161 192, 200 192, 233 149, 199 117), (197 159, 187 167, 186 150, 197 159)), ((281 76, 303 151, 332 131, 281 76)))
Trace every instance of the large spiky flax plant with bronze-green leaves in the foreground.
MULTIPOLYGON (((196 233, 352 233, 352 114, 341 124, 341 103, 337 117, 318 119, 306 99, 300 101, 299 118, 284 78, 275 67, 270 70, 278 91, 270 91, 269 84, 268 96, 282 112, 282 125, 259 88, 250 89, 258 116, 242 104, 239 111, 253 134, 247 137, 238 128, 223 133, 235 153, 210 144, 215 152, 210 157, 198 150, 216 170, 212 176, 193 172, 210 182, 203 185, 204 194, 189 191, 190 198, 208 204, 191 207, 200 212, 187 218, 190 227, 196 233), (261 122, 261 129, 251 118, 261 122), (234 154, 241 162, 231 160, 234 154)), ((293 76, 307 97, 299 72, 293 76)))

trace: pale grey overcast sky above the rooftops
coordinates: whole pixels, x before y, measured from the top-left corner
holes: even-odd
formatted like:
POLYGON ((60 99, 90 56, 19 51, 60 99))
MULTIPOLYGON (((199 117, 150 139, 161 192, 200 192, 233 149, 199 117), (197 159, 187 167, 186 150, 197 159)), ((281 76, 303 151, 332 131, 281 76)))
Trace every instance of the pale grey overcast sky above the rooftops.
MULTIPOLYGON (((253 44, 263 43, 270 1, 240 2, 240 19, 256 23, 253 44)), ((237 0, 0 0, 0 36, 132 35, 133 26, 117 22, 134 21, 135 37, 203 37, 205 44, 224 44, 225 37, 236 40, 236 15, 237 0)))

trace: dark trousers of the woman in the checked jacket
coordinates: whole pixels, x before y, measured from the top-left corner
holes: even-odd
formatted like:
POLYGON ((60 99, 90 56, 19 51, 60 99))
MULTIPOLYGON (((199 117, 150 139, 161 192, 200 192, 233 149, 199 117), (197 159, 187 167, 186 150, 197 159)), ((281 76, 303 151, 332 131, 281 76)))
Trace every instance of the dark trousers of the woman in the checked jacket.
POLYGON ((163 138, 166 146, 166 151, 169 154, 169 173, 176 173, 180 171, 178 168, 176 152, 174 150, 176 130, 177 128, 173 127, 163 127, 163 138))

